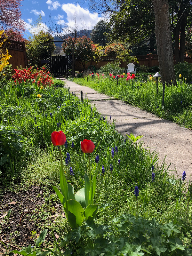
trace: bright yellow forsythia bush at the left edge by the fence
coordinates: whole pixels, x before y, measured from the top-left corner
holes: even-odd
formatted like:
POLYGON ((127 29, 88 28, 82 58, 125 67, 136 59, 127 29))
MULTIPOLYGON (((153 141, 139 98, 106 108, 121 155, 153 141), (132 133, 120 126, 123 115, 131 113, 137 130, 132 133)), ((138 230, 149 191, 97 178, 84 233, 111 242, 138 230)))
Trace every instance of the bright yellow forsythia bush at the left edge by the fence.
POLYGON ((7 40, 7 35, 4 33, 4 30, 0 31, 0 72, 5 66, 9 64, 8 60, 11 58, 9 55, 8 49, 4 51, 4 42, 7 40))

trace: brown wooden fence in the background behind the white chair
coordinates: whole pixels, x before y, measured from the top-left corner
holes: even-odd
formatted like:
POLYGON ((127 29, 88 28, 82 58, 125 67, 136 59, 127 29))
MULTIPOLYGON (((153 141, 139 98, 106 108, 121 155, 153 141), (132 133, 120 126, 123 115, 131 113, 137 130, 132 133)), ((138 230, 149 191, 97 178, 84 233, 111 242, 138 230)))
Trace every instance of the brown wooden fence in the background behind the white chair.
MULTIPOLYGON (((158 61, 158 55, 156 54, 148 54, 148 55, 136 55, 139 65, 145 65, 147 67, 154 67, 154 66, 159 66, 159 61, 158 61)), ((100 68, 101 66, 107 64, 108 62, 113 62, 116 60, 115 56, 102 56, 101 60, 98 61, 97 63, 95 61, 89 61, 88 63, 85 64, 85 69, 87 69, 89 66, 95 66, 96 68, 100 68)), ((173 56, 173 61, 175 64, 175 57, 173 56)), ((185 58, 185 61, 192 63, 192 58, 185 58)), ((136 62, 133 62, 134 64, 138 64, 136 62)), ((120 67, 125 68, 127 67, 128 62, 121 62, 120 67)), ((76 60, 75 63, 76 71, 83 71, 84 67, 80 60, 76 60)))

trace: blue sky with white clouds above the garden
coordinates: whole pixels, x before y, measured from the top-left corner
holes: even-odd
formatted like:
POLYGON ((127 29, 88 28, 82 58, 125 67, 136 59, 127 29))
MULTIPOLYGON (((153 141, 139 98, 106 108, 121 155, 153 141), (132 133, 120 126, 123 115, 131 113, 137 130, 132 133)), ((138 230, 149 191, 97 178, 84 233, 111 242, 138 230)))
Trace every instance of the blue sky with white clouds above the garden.
POLYGON ((42 15, 42 27, 48 25, 48 19, 51 14, 52 20, 58 22, 60 16, 61 23, 66 22, 72 24, 74 13, 77 14, 77 24, 81 24, 81 20, 87 24, 88 29, 92 29, 93 26, 101 19, 98 13, 91 13, 88 9, 88 1, 70 2, 65 0, 24 0, 21 2, 22 6, 22 19, 25 21, 26 32, 25 37, 28 38, 31 33, 34 33, 34 29, 31 25, 36 21, 39 15, 42 15))

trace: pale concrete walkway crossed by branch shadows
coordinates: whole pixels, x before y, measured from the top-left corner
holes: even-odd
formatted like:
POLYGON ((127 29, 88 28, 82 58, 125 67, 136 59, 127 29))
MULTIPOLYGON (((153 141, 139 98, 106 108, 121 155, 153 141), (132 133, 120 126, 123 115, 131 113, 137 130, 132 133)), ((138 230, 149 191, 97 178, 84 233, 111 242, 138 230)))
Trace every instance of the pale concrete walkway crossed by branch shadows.
POLYGON ((79 98, 81 98, 80 91, 82 90, 83 97, 92 100, 100 113, 103 116, 108 116, 108 120, 109 116, 112 116, 112 120, 116 120, 118 132, 124 136, 131 132, 135 137, 144 135, 142 139, 145 145, 148 144, 150 150, 156 149, 160 160, 166 156, 166 163, 172 163, 170 170, 176 168, 177 174, 180 176, 182 176, 183 171, 186 171, 187 179, 189 179, 190 174, 192 174, 191 130, 158 118, 123 101, 111 99, 89 87, 80 86, 68 80, 65 82, 70 87, 71 92, 75 92, 79 98))

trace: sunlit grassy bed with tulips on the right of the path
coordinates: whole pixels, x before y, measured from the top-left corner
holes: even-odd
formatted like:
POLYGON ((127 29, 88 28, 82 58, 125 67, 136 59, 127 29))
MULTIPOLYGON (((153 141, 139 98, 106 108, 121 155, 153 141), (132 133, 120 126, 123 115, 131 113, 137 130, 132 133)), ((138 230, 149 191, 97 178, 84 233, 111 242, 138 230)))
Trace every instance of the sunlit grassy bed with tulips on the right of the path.
POLYGON ((153 75, 148 75, 145 80, 142 77, 133 78, 132 75, 120 74, 118 85, 115 76, 108 73, 95 74, 93 79, 91 76, 75 78, 74 82, 192 129, 192 84, 179 74, 176 86, 173 84, 165 86, 164 109, 162 109, 163 84, 159 82, 157 94, 156 78, 153 75))

